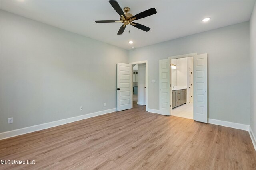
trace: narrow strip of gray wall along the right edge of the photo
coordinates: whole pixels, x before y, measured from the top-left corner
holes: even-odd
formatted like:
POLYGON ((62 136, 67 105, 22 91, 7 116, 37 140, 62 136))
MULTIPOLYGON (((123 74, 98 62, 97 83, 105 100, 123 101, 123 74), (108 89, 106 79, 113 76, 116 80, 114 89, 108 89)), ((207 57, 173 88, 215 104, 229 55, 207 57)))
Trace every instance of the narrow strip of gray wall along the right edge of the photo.
POLYGON ((250 64, 250 126, 256 136, 256 3, 250 18, 250 64))

